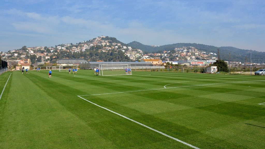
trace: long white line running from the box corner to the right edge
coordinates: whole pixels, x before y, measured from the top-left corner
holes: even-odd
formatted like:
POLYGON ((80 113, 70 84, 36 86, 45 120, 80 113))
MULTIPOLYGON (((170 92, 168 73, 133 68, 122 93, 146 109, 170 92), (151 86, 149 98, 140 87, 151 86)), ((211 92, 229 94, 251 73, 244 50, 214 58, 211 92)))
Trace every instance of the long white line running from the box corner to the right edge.
MULTIPOLYGON (((224 83, 213 83, 213 84, 203 84, 203 85, 189 85, 189 86, 177 86, 177 87, 168 87, 168 88, 160 88, 160 89, 147 89, 147 90, 162 90, 162 89, 172 89, 172 88, 180 88, 180 87, 206 86, 206 85, 227 84, 227 83, 260 82, 260 81, 265 81, 265 80, 259 80, 259 81, 241 81, 241 82, 224 82, 224 83)), ((147 90, 136 90, 136 91, 147 91, 147 90)), ((107 94, 118 94, 118 93, 130 93, 130 92, 136 92, 136 91, 123 91, 123 92, 116 92, 116 93, 79 95, 79 96, 94 96, 94 95, 107 95, 107 94)))

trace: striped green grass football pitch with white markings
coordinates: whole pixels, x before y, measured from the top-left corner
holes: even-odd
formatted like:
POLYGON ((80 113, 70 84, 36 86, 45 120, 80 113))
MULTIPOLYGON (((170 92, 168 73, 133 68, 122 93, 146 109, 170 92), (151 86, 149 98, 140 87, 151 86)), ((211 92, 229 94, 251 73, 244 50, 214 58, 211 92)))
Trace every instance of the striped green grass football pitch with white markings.
POLYGON ((0 76, 0 148, 265 148, 264 76, 29 73, 0 76))

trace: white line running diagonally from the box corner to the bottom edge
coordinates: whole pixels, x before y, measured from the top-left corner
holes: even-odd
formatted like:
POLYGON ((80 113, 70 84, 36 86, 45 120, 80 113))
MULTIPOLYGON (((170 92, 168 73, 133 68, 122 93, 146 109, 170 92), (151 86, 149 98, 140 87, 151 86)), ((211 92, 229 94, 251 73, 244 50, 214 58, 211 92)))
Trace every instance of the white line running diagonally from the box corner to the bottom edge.
MULTIPOLYGON (((78 96, 78 97, 80 97, 80 96, 78 96)), ((80 97, 80 98, 82 98, 82 97, 80 97)), ((86 100, 85 98, 82 98, 82 99, 83 99, 83 100, 86 100)), ((135 121, 135 120, 133 120, 133 119, 130 119, 130 118, 128 118, 128 117, 126 117, 126 116, 123 116, 123 115, 121 115, 121 114, 119 114, 119 113, 117 113, 117 112, 114 112, 114 111, 112 111, 112 110, 110 110, 110 109, 107 109, 107 108, 105 108, 105 107, 99 106, 98 104, 95 104, 95 103, 93 103, 93 102, 91 102, 91 101, 89 101, 89 100, 86 100, 86 101, 87 101, 87 102, 90 102, 90 103, 92 103, 92 104, 94 104, 94 105, 96 105, 96 106, 98 106, 98 107, 100 107, 100 108, 103 108, 103 109, 105 109, 105 110, 108 110, 109 112, 112 112, 112 113, 114 113, 114 114, 117 114, 117 115, 119 115, 119 116, 121 116, 121 117, 123 117, 123 118, 125 118, 125 119, 127 119, 127 120, 133 121, 133 122, 135 122, 135 123, 137 123, 137 124, 139 124, 139 125, 142 125, 142 126, 148 128, 148 129, 151 129, 151 130, 153 130, 153 131, 155 131, 155 132, 157 132, 157 133, 160 133, 160 134, 162 134, 162 135, 164 135, 164 136, 166 136, 166 137, 169 137, 169 138, 171 138, 171 139, 173 139, 173 140, 176 140, 176 141, 178 141, 178 142, 180 142, 180 143, 183 143, 183 144, 185 144, 185 145, 187 145, 187 146, 189 146, 189 147, 192 147, 192 148, 195 148, 195 149, 200 149, 200 148, 198 148, 198 147, 196 147, 196 146, 193 146, 193 145, 191 145, 191 144, 189 144, 189 143, 186 143, 186 142, 184 142, 184 141, 181 141, 181 140, 179 140, 179 139, 177 139, 177 138, 171 137, 170 135, 167 135, 167 134, 165 134, 165 133, 162 133, 162 132, 160 132, 160 131, 158 131, 158 130, 156 130, 156 129, 153 129, 153 128, 149 127, 149 126, 146 126, 146 125, 144 125, 144 124, 142 124, 142 123, 140 123, 140 122, 138 122, 138 121, 135 121)))

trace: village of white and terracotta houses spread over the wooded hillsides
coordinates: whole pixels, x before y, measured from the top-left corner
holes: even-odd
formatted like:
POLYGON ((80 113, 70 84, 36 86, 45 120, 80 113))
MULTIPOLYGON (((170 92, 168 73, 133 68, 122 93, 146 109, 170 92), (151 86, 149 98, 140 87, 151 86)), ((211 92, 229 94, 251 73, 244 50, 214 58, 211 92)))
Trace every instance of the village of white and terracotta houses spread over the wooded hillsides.
MULTIPOLYGON (((155 46, 153 46, 155 47, 155 46)), ((86 61, 140 61, 141 59, 160 59, 164 62, 192 62, 204 61, 209 64, 217 60, 216 53, 206 53, 195 47, 175 48, 172 51, 144 53, 141 49, 134 49, 116 38, 99 36, 89 41, 76 44, 67 43, 55 47, 26 47, 8 52, 0 52, 8 61, 31 59, 32 64, 56 63, 62 58, 83 58, 86 61), (101 55, 100 55, 101 54, 101 55), (120 54, 119 56, 114 54, 120 54), (112 56, 112 57, 111 57, 112 56), (114 58, 114 59, 113 59, 114 58)), ((231 62, 241 64, 241 62, 231 62)))

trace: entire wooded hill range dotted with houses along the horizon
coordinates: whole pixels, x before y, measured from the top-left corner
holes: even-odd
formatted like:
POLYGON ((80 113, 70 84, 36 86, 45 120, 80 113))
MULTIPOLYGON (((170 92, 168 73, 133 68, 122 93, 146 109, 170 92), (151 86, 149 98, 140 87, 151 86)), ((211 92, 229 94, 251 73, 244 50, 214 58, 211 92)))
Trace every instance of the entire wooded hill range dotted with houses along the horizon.
POLYGON ((115 37, 99 36, 76 44, 65 43, 54 47, 27 47, 0 52, 8 60, 30 59, 31 63, 56 63, 59 59, 83 58, 86 61, 129 62, 141 59, 161 59, 163 61, 178 60, 216 60, 217 49, 220 58, 233 63, 264 63, 265 52, 243 50, 235 47, 215 47, 197 43, 175 43, 163 46, 148 46, 140 42, 125 44, 115 37))

